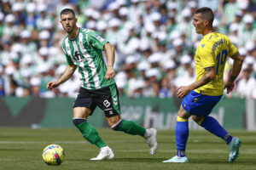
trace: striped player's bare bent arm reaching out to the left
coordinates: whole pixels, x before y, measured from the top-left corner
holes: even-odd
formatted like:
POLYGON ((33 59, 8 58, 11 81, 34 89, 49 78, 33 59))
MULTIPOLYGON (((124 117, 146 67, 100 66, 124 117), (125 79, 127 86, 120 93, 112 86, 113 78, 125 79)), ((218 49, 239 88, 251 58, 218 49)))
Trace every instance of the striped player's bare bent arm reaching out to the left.
POLYGON ((51 90, 52 88, 59 87, 63 82, 66 82, 70 77, 73 76, 76 71, 77 65, 67 65, 66 70, 57 81, 51 81, 47 83, 46 88, 51 90))

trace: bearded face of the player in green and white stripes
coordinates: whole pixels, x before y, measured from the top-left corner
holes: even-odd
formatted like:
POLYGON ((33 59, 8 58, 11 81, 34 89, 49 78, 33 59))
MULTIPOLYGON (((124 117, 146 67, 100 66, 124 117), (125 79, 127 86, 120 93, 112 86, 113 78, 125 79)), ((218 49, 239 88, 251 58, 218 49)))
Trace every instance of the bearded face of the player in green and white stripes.
POLYGON ((67 32, 72 32, 76 26, 77 19, 72 13, 61 14, 61 25, 67 32))

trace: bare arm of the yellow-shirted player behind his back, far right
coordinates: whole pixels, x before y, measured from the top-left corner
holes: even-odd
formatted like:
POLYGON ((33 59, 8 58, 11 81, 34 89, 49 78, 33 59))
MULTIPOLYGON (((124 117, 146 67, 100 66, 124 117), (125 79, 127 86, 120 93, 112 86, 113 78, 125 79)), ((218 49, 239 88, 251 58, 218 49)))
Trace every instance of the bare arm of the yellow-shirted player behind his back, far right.
POLYGON ((243 58, 241 57, 241 54, 237 52, 233 56, 230 56, 231 59, 234 59, 234 64, 232 67, 232 71, 230 74, 229 81, 224 85, 224 89, 227 88, 227 94, 230 94, 230 92, 233 90, 235 87, 235 80, 236 77, 238 77, 240 71, 241 71, 241 65, 243 63, 243 58))

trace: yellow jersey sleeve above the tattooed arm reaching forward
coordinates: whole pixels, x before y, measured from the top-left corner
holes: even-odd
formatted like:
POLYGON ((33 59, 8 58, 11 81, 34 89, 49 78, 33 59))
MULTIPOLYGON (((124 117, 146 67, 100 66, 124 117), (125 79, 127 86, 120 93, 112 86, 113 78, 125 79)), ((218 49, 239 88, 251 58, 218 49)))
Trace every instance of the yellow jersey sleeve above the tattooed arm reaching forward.
POLYGON ((215 65, 214 53, 212 52, 211 42, 205 42, 201 45, 201 65, 203 68, 215 65))

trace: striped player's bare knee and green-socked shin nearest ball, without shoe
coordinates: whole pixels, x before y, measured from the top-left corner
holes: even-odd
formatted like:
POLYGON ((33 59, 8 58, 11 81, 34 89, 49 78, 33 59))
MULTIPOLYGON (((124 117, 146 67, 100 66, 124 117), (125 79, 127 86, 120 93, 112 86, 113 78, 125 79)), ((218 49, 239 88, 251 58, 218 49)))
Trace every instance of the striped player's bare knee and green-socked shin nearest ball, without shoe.
POLYGON ((96 128, 87 122, 87 117, 90 115, 90 109, 85 107, 73 108, 73 124, 78 127, 79 131, 83 134, 84 139, 87 139, 90 144, 96 144, 98 148, 106 146, 105 142, 99 136, 96 128))

